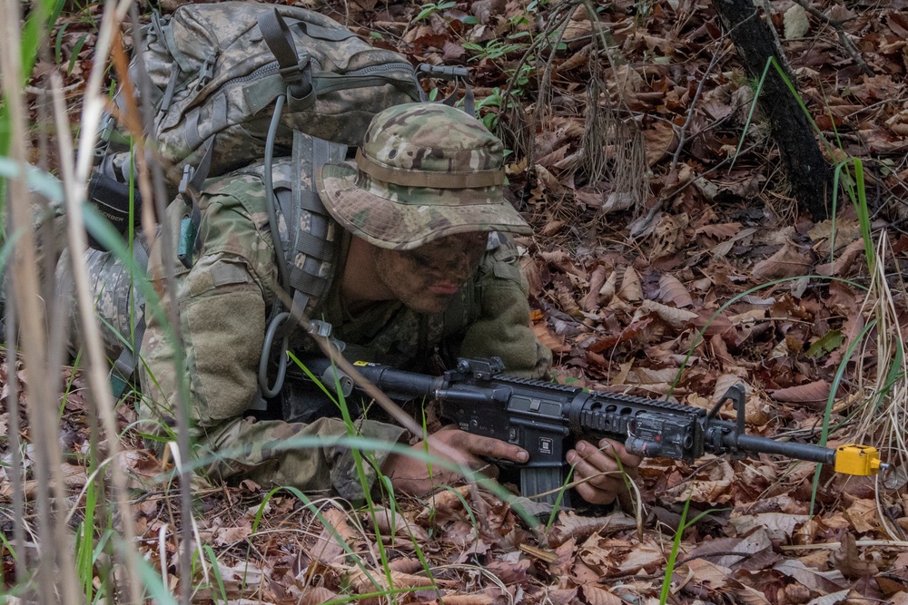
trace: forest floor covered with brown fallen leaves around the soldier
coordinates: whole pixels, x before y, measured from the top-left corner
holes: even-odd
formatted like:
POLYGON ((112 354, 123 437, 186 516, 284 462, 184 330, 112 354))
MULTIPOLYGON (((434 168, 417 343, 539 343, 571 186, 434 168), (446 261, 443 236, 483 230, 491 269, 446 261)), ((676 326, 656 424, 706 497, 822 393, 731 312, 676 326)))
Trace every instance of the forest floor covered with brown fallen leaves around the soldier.
MULTIPOLYGON (((263 504, 252 482, 200 487, 196 531, 220 580, 200 571, 194 602, 642 604, 667 574, 674 603, 908 604, 908 2, 765 4, 827 158, 864 171, 866 200, 842 193, 818 222, 795 210, 764 113, 750 116, 755 83, 707 3, 617 0, 595 20, 592 5, 538 0, 305 6, 414 64, 471 68, 514 151, 510 200, 537 230, 519 244, 560 382, 699 407, 743 383, 750 433, 817 443, 831 426, 828 444, 875 445, 897 468, 883 480, 765 454, 648 459, 629 514, 560 512, 548 527, 466 488, 393 515, 322 502, 320 520, 291 493, 263 504), (389 580, 402 591, 369 596, 389 580)), ((79 83, 99 10, 64 15, 57 63, 37 73, 79 83)), ((77 388, 63 410, 78 453, 77 388)), ((77 503, 88 476, 67 467, 77 503)), ((123 467, 140 548, 173 587, 178 498, 151 483, 161 463, 137 441, 123 467)))

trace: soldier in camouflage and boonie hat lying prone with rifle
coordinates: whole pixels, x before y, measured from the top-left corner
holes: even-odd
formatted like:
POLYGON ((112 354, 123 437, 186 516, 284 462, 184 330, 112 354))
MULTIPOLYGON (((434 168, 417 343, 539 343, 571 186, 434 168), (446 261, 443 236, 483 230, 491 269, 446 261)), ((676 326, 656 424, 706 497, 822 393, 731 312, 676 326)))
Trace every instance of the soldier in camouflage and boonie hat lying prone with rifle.
MULTIPOLYGON (((285 196, 291 205, 281 214, 280 231, 286 236, 298 230, 302 235, 296 239, 309 240, 318 231, 316 249, 298 247, 289 254, 291 269, 298 269, 291 272, 291 282, 321 284, 315 290, 301 285, 305 296, 294 295, 294 305, 330 324, 333 337, 346 346, 345 355, 356 359, 424 371, 434 355, 447 362, 458 356, 499 356, 512 376, 547 376, 551 354, 529 327, 527 286, 509 237, 531 229, 503 198, 503 151, 481 122, 436 103, 380 112, 355 161, 343 161, 342 152, 338 158, 331 148, 321 155, 336 161, 318 161, 320 152, 294 151, 285 167, 296 171, 297 185, 285 196), (293 214, 292 205, 307 191, 327 210, 318 229, 317 211, 293 214), (316 268, 302 270, 312 259, 319 260, 316 268)), ((267 486, 360 499, 363 486, 350 450, 331 439, 347 434, 340 419, 288 423, 249 413, 262 398, 260 354, 268 348, 274 292, 286 285, 279 258, 288 254, 281 243, 275 245, 274 215, 268 211, 272 198, 262 171, 210 179, 197 200, 201 220, 192 263, 155 247, 149 276, 159 292, 165 289, 160 283, 165 263, 177 276, 193 437, 200 454, 217 459, 208 471, 222 479, 249 477, 267 486), (316 449, 275 447, 293 435, 328 438, 316 449), (223 454, 237 451, 242 454, 223 454)), ((278 196, 278 205, 282 201, 278 196)), ((179 238, 184 219, 185 204, 174 201, 163 228, 179 238)), ((149 314, 147 321, 139 365, 141 414, 173 424, 179 375, 173 344, 155 317, 149 314)), ((313 347, 304 334, 291 337, 289 344, 303 353, 313 347)), ((409 437, 400 426, 366 418, 357 421, 357 428, 363 436, 389 443, 409 437)), ((452 428, 427 441, 437 456, 443 457, 433 444, 462 451, 474 468, 488 465, 481 457, 528 459, 516 445, 452 428)), ((412 447, 423 451, 426 444, 412 447)), ((612 503, 625 489, 622 470, 634 475, 639 464, 623 445, 607 440, 581 441, 567 457, 574 478, 584 482, 577 492, 589 503, 612 503)), ((377 471, 390 477, 395 490, 410 494, 428 493, 455 479, 438 469, 431 475, 425 463, 405 454, 376 452, 371 462, 375 467, 367 469, 367 489, 374 487, 377 471)))

